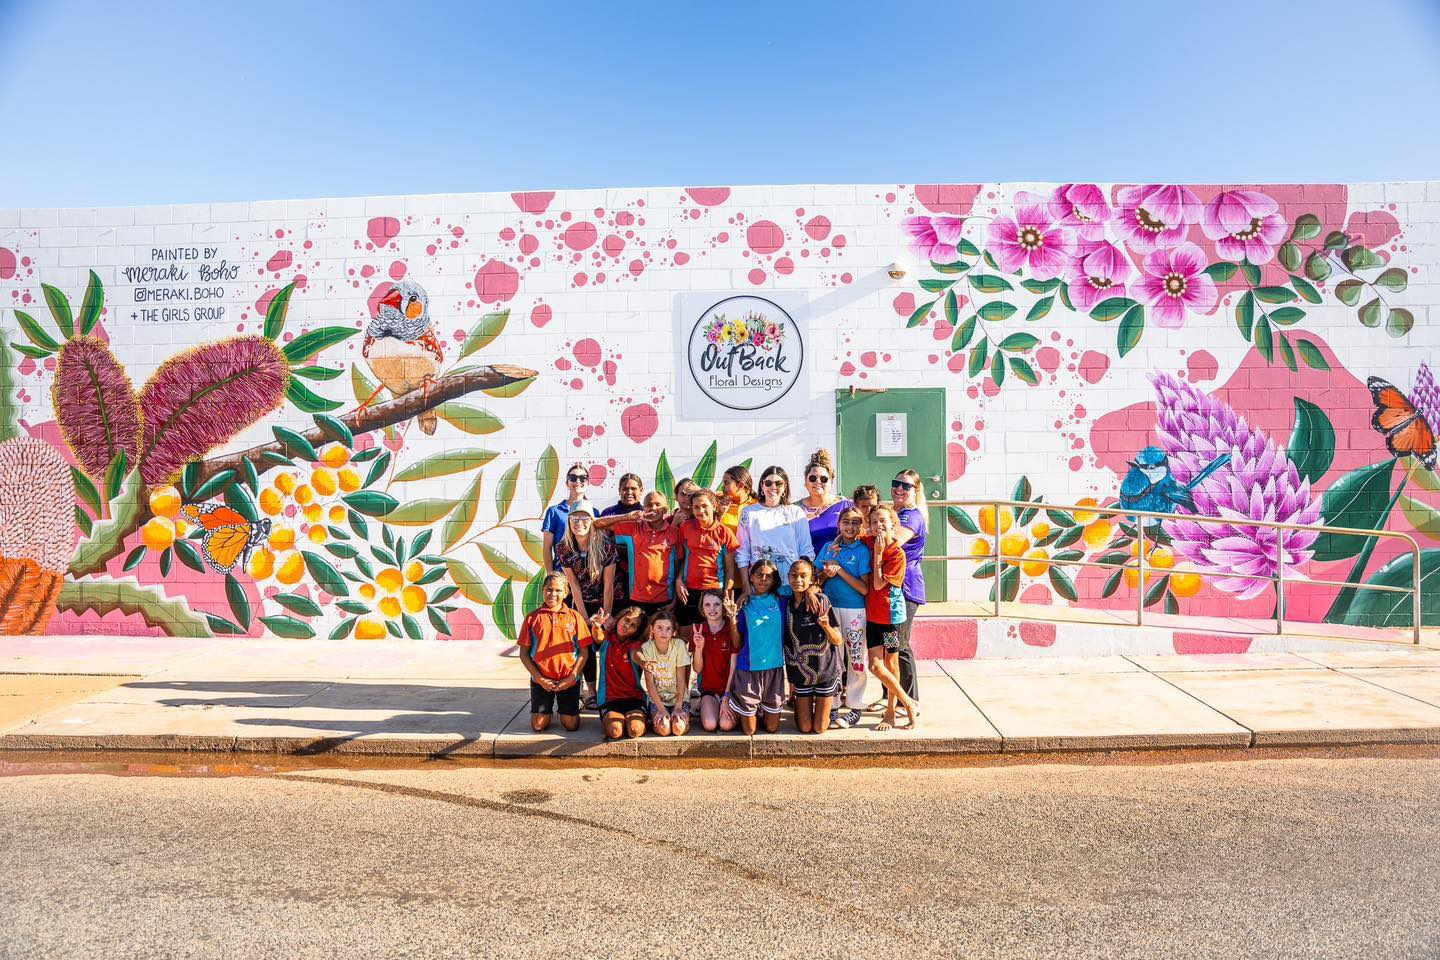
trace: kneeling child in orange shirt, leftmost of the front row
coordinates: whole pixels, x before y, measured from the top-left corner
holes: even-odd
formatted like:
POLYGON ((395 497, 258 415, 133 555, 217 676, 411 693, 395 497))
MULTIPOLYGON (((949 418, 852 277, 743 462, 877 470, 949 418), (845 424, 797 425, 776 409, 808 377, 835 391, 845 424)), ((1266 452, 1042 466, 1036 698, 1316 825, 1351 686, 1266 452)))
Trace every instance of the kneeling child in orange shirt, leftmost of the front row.
POLYGON ((520 628, 520 662, 530 674, 530 728, 550 727, 550 714, 560 714, 566 730, 580 727, 580 671, 585 668, 590 626, 564 606, 569 584, 559 573, 547 574, 540 586, 541 603, 520 628))

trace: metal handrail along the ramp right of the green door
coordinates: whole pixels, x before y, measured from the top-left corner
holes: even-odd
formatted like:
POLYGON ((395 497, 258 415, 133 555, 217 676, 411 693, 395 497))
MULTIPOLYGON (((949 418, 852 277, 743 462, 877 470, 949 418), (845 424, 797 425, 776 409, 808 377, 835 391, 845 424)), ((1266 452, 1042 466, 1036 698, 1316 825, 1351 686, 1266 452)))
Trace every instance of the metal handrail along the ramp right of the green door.
MULTIPOLYGON (((1413 619, 1413 642, 1420 643, 1420 612, 1421 612, 1421 590, 1420 590, 1420 544, 1410 534, 1404 534, 1394 530, 1361 530, 1358 527, 1331 527, 1326 524, 1286 524, 1273 520, 1234 520, 1225 517, 1205 517, 1202 514, 1162 514, 1151 510, 1130 510, 1125 507, 1099 507, 1092 504, 1047 504, 1044 501, 1030 501, 1030 499, 932 499, 926 502, 926 507, 991 507, 995 511, 995 544, 989 556, 972 556, 972 554, 943 554, 943 556, 926 556, 926 560, 943 560, 949 563, 950 560, 969 560, 972 563, 994 563, 995 564, 995 609, 992 613, 986 615, 989 617, 1001 616, 1001 603, 1004 602, 999 577, 1004 571, 1004 564, 1020 566, 1024 563, 1022 557, 1011 557, 1001 554, 1001 531, 999 531, 999 517, 1001 508, 1011 508, 1018 514, 1018 511, 1034 508, 1037 511, 1054 510, 1067 514, 1097 514, 1107 517, 1126 517, 1135 518, 1135 534, 1136 534, 1136 561, 1132 567, 1129 563, 1123 564, 1109 564, 1096 563, 1092 560, 1054 560, 1051 557, 1044 558, 1044 564, 1057 567, 1104 567, 1106 570, 1135 570, 1138 574, 1136 589, 1135 589, 1135 626, 1145 626, 1145 524, 1140 518, 1155 518, 1155 520, 1185 520, 1197 524, 1218 524, 1223 527, 1269 527, 1273 530, 1295 530, 1295 531, 1315 531, 1319 534, 1339 534, 1348 537, 1378 537, 1388 540, 1400 540, 1410 548, 1411 564, 1411 586, 1408 587, 1391 587, 1385 584, 1372 583, 1344 583, 1336 580, 1310 580, 1306 579, 1305 583, 1316 583, 1322 586, 1336 586, 1346 587, 1352 590, 1381 590, 1387 593, 1408 593, 1411 602, 1411 619, 1413 619)), ((989 535, 989 534, 981 534, 989 535)), ((1041 563, 1041 561, 1037 561, 1041 563)), ((1276 573, 1274 576, 1261 576, 1256 573, 1228 573, 1227 577, 1241 579, 1241 580, 1266 580, 1276 584, 1276 604, 1274 604, 1274 632, 1276 635, 1284 633, 1284 538, 1276 537, 1276 573)))

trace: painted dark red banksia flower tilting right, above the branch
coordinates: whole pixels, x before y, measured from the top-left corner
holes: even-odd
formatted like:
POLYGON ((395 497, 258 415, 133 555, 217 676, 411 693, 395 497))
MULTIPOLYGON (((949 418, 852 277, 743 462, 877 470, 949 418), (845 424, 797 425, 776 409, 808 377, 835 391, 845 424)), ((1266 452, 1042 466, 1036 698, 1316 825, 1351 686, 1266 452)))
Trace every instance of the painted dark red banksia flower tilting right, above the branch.
POLYGON ((141 478, 173 481, 189 461, 279 407, 287 386, 285 357, 265 337, 232 337, 166 360, 140 391, 141 478))

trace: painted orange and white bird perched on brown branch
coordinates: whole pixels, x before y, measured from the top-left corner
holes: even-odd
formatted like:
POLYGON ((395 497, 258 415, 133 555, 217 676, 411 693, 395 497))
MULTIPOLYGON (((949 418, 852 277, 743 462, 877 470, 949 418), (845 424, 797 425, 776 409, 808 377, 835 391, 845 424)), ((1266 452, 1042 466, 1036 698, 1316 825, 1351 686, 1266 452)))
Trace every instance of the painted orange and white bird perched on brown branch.
MULTIPOLYGON (((364 332, 360 353, 380 386, 360 404, 361 410, 370 406, 382 389, 396 397, 415 390, 429 391, 445 353, 435 335, 431 298, 423 286, 415 281, 400 281, 392 286, 376 305, 364 332)), ((435 410, 422 410, 415 419, 422 430, 435 433, 435 410)))

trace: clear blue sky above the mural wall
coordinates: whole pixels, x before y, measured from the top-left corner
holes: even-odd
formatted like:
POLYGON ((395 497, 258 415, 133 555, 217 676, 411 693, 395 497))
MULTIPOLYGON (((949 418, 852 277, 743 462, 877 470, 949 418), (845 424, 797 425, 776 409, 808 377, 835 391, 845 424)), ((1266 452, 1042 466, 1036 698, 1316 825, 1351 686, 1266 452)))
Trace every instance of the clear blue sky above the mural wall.
POLYGON ((1437 118, 1433 0, 0 0, 0 206, 1428 178, 1437 118))

